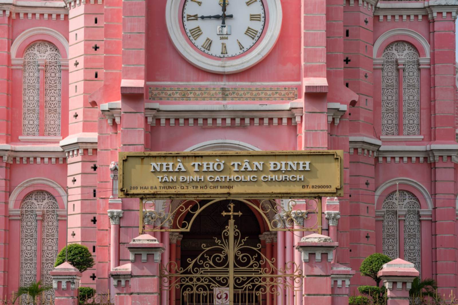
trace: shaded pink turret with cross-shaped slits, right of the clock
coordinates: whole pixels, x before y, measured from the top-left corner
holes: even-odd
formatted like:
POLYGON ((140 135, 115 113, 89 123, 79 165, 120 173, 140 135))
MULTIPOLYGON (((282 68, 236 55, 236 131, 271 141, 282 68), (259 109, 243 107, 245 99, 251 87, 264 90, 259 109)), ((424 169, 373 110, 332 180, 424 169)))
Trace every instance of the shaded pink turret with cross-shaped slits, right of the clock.
MULTIPOLYGON (((350 266, 359 270, 365 257, 375 252, 375 159, 373 128, 373 10, 376 1, 345 1, 344 84, 358 94, 348 109, 349 119, 349 246, 350 266), (351 197, 350 197, 351 196, 351 197), (367 237, 366 237, 367 236, 367 237)), ((352 286, 366 283, 356 272, 352 286)), ((366 283, 369 284, 369 283, 366 283)))

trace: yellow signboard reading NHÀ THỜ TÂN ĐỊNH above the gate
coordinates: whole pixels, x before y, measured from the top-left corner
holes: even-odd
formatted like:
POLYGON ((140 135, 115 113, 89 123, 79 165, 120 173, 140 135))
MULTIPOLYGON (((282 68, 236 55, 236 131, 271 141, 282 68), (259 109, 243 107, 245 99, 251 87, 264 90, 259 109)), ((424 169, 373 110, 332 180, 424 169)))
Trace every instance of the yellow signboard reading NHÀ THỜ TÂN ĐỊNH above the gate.
POLYGON ((120 198, 343 195, 343 150, 121 152, 120 198))

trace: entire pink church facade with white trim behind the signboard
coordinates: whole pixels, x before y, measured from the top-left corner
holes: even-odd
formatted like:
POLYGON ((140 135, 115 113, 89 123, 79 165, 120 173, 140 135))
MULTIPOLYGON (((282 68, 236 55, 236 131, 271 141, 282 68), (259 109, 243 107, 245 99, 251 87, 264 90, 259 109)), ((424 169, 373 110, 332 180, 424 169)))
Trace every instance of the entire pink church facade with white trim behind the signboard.
MULTIPOLYGON (((170 20, 199 1, 0 1, 0 295, 52 284, 66 239, 96 262, 81 285, 114 291, 139 223, 138 200, 117 197, 118 152, 211 150, 344 150, 322 234, 356 271, 350 291, 382 252, 457 293, 458 2, 258 1, 263 30, 230 59, 170 20)), ((300 260, 302 236, 258 233, 300 260)), ((176 259, 183 240, 156 237, 176 259)))

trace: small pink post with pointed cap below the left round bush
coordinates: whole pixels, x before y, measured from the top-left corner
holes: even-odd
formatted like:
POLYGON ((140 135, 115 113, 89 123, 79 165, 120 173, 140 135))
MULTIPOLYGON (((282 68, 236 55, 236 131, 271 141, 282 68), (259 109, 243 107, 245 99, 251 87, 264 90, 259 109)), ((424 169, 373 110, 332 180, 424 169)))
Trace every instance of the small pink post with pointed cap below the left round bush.
POLYGON ((50 274, 53 278, 55 305, 78 305, 81 272, 69 262, 63 262, 50 274))

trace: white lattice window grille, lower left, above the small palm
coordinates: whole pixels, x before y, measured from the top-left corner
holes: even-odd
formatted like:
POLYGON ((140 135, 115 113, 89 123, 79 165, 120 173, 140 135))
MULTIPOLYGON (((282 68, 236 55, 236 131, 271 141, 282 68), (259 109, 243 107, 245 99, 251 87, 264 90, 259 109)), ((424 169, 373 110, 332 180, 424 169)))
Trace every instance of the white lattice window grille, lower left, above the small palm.
MULTIPOLYGON (((56 198, 48 192, 36 191, 28 194, 21 204, 21 254, 20 286, 41 280, 43 285, 52 285, 49 274, 54 269, 58 251, 59 220, 56 198), (41 215, 41 239, 38 240, 38 218, 41 215), (37 253, 38 243, 41 253, 37 253), (40 278, 37 278, 37 258, 41 261, 40 278)), ((47 300, 54 298, 54 290, 45 293, 47 300)), ((23 304, 27 299, 23 300, 23 304)))

